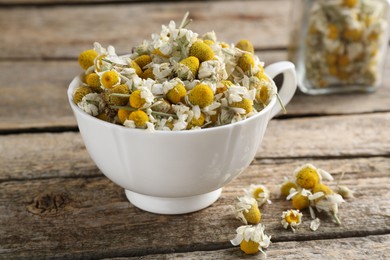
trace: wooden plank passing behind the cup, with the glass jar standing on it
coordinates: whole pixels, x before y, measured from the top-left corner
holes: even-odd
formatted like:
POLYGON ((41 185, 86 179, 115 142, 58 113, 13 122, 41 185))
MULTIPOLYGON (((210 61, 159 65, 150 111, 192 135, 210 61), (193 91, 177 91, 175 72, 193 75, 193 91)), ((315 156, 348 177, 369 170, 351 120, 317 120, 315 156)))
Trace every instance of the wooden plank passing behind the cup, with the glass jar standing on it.
MULTIPOLYGON (((257 54, 266 64, 286 59, 284 51, 257 54)), ((387 57, 386 71, 390 70, 390 53, 387 57)), ((3 61, 0 71, 0 131, 76 127, 66 97, 68 84, 81 72, 76 61, 3 61), (23 76, 10 77, 15 71, 23 76)), ((297 92, 286 107, 287 116, 390 111, 389 73, 385 73, 384 86, 372 94, 307 96, 297 92)))

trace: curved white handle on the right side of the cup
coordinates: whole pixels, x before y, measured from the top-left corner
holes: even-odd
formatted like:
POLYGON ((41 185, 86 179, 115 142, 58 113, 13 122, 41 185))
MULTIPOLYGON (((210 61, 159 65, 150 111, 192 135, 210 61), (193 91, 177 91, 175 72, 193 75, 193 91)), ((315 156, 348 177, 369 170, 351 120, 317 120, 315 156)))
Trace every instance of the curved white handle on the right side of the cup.
MULTIPOLYGON (((279 97, 283 105, 286 106, 297 89, 297 75, 294 64, 289 61, 280 61, 267 66, 264 71, 271 79, 275 78, 276 75, 283 73, 283 84, 279 92, 279 97)), ((281 110, 281 105, 279 102, 276 102, 272 108, 270 119, 281 110)))

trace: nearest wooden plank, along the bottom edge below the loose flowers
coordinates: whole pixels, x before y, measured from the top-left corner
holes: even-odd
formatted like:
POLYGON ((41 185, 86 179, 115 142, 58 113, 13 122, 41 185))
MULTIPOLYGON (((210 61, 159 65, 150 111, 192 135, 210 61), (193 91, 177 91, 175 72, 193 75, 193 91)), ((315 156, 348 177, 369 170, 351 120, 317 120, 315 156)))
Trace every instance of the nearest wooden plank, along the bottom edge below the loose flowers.
MULTIPOLYGON (((342 239, 273 243, 267 250, 269 259, 389 259, 390 235, 342 239)), ((261 258, 259 255, 256 259, 261 258)), ((148 255, 142 259, 223 259, 249 258, 237 248, 215 251, 148 255)), ((264 257, 263 257, 264 258, 264 257)), ((115 258, 116 260, 125 258, 115 258)), ((130 258, 132 259, 132 258, 130 258)))

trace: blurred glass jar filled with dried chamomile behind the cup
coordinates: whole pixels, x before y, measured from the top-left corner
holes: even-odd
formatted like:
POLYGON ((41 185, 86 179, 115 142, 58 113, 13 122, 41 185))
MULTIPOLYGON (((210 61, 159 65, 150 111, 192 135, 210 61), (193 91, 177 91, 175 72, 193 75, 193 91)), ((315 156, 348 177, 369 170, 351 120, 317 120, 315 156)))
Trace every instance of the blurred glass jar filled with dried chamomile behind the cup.
POLYGON ((289 58, 307 94, 375 91, 389 39, 388 0, 295 0, 289 58))

